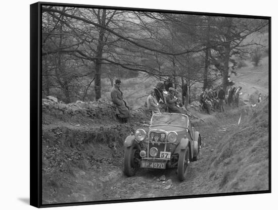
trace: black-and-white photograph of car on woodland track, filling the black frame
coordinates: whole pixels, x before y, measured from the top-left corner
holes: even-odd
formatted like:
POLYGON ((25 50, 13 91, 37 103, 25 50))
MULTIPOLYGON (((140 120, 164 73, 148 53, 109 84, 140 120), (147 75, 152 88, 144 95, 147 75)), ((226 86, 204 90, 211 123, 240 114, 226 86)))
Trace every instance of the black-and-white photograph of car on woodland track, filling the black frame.
POLYGON ((42 206, 270 192, 270 17, 39 6, 42 206))

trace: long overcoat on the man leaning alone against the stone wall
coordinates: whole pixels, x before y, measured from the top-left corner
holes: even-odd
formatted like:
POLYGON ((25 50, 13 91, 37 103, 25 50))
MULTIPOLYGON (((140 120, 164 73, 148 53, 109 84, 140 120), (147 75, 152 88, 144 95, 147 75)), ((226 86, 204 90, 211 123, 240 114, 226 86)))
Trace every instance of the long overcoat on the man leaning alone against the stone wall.
POLYGON ((129 109, 126 105, 126 102, 123 99, 122 91, 116 86, 114 86, 111 90, 111 99, 116 106, 116 114, 120 118, 128 118, 129 109))

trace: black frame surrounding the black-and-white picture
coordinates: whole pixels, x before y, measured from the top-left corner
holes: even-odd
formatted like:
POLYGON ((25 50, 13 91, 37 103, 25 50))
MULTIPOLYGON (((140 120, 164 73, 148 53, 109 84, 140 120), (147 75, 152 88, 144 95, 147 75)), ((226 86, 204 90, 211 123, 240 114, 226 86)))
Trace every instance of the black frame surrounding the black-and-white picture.
MULTIPOLYGON (((42 77, 41 77, 41 7, 42 6, 61 6, 61 7, 76 7, 76 8, 97 8, 97 9, 113 9, 113 10, 128 10, 128 11, 144 11, 157 13, 177 13, 189 15, 206 15, 206 16, 222 16, 222 17, 239 17, 239 18, 254 18, 265 19, 269 21, 269 111, 271 111, 271 17, 265 16, 250 16, 250 15, 233 15, 233 14, 217 14, 217 13, 200 13, 200 12, 184 12, 184 11, 168 11, 143 8, 122 8, 108 6, 91 6, 78 4, 62 4, 62 3, 47 3, 38 2, 30 5, 30 204, 35 207, 54 207, 54 206, 71 206, 71 205, 87 205, 115 202, 134 202, 147 200, 164 200, 164 199, 180 199, 180 198, 195 198, 195 197, 213 197, 213 196, 228 196, 228 195, 246 195, 257 193, 271 193, 271 115, 269 114, 269 186, 268 190, 263 191, 246 191, 233 193, 215 193, 201 195, 185 195, 185 196, 169 196, 155 198, 140 198, 128 200, 103 200, 89 202, 74 202, 74 203, 57 203, 57 204, 42 204, 42 77)), ((271 113, 271 112, 270 112, 271 113)))

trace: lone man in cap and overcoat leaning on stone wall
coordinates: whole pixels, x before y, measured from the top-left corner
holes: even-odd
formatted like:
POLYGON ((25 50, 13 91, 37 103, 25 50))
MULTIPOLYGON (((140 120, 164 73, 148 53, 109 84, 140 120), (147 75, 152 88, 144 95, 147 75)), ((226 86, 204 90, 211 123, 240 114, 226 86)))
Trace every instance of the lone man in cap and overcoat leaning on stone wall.
POLYGON ((116 106, 116 115, 122 123, 127 123, 129 119, 129 108, 123 99, 123 93, 120 90, 121 80, 116 79, 114 87, 111 90, 112 102, 116 106))

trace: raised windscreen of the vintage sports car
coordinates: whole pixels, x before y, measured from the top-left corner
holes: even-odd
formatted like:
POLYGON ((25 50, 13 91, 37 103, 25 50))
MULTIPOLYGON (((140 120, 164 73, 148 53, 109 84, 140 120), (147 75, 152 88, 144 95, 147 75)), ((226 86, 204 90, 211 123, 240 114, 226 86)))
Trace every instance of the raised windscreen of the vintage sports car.
POLYGON ((179 114, 155 114, 152 117, 151 126, 155 125, 177 125, 188 127, 188 117, 179 114))

